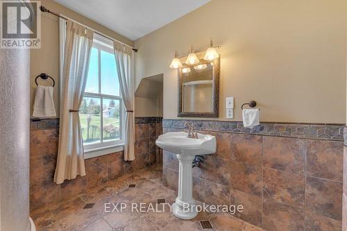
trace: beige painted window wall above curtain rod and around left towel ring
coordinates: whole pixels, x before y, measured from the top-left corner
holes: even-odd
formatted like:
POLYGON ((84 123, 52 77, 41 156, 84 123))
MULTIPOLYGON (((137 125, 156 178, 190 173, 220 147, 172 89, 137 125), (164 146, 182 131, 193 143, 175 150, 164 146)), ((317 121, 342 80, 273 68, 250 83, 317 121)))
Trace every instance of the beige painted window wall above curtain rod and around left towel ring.
MULTIPOLYGON (((133 46, 133 42, 128 40, 114 31, 111 31, 96 22, 79 15, 78 13, 65 8, 64 6, 51 0, 42 0, 42 6, 45 6, 53 12, 60 12, 71 19, 81 22, 86 26, 104 33, 110 37, 113 37, 121 42, 124 42, 130 46, 133 46)), ((31 49, 31 115, 33 114, 33 99, 35 97, 35 77, 42 72, 49 74, 56 80, 56 86, 54 87, 54 103, 56 105, 57 117, 59 117, 59 25, 58 17, 47 13, 42 13, 42 43, 41 49, 31 49)), ((40 83, 44 84, 43 81, 40 83)), ((51 82, 47 81, 47 85, 51 82)))

